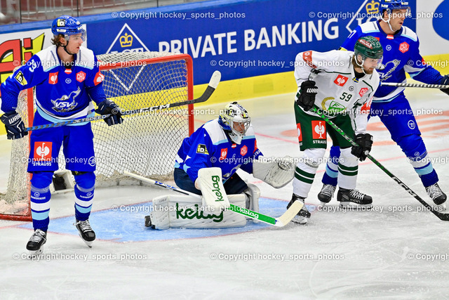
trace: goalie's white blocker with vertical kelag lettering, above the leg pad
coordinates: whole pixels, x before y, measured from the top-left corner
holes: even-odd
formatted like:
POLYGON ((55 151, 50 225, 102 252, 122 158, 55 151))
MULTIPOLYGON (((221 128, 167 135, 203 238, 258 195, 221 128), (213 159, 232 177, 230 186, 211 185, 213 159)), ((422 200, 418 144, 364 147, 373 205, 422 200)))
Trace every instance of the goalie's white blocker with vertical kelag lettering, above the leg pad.
POLYGON ((213 207, 217 211, 229 208, 229 200, 222 181, 222 169, 217 167, 199 169, 196 183, 203 195, 205 206, 213 207))

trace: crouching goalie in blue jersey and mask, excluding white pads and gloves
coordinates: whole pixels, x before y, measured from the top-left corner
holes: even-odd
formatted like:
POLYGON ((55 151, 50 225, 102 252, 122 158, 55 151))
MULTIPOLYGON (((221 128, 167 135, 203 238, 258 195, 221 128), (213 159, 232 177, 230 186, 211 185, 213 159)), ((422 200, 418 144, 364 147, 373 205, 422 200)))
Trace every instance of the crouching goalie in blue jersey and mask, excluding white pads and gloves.
POLYGON ((246 190, 248 186, 236 171, 242 169, 252 174, 253 159, 262 155, 250 121, 241 105, 229 103, 218 119, 207 122, 185 138, 176 156, 176 185, 201 195, 196 183, 199 169, 219 167, 227 194, 246 190))

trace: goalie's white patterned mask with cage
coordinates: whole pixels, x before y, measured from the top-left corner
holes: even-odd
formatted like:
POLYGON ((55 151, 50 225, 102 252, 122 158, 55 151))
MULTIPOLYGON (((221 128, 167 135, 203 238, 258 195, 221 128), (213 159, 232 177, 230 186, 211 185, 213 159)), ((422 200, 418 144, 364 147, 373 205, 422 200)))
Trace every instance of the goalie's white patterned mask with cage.
POLYGON ((239 103, 233 102, 225 106, 225 110, 220 112, 218 123, 228 134, 231 141, 240 144, 243 136, 250 127, 251 118, 248 112, 239 103))

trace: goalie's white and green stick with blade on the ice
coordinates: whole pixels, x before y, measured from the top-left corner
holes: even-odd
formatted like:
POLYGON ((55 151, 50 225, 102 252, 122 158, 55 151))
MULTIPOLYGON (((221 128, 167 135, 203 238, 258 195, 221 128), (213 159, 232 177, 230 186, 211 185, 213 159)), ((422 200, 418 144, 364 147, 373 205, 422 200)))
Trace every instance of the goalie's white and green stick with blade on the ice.
MULTIPOLYGON (((201 199, 200 195, 196 195, 194 193, 187 192, 187 190, 181 190, 180 188, 175 188, 174 186, 167 185, 166 183, 154 181, 152 179, 149 179, 149 178, 146 178, 143 176, 139 176, 137 174, 133 174, 128 171, 123 171, 123 175, 130 176, 130 177, 139 179, 140 181, 145 181, 147 183, 152 183, 153 185, 157 185, 162 188, 167 188, 168 190, 174 190, 177 193, 181 193, 184 195, 189 195, 189 196, 201 199)), ((272 226, 283 227, 283 226, 286 226, 290 221, 292 221, 293 217, 296 216, 296 214, 298 212, 300 212, 303 205, 304 204, 301 201, 293 202, 292 206, 290 206, 287 209, 287 211, 279 218, 273 218, 272 216, 260 214, 257 211, 252 211, 250 209, 244 209, 243 207, 236 206, 232 203, 231 203, 231 206, 229 207, 229 210, 232 212, 235 212, 236 214, 243 214, 243 216, 247 216, 250 219, 259 220, 261 222, 267 223, 272 226)))

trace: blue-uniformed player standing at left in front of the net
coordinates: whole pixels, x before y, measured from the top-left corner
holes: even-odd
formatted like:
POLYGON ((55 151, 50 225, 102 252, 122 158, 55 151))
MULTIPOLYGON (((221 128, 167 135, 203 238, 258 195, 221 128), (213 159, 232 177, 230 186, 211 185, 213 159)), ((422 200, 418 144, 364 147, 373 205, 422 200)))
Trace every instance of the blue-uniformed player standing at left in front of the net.
MULTIPOLYGON (((6 126, 8 139, 27 135, 22 117, 18 115, 18 95, 23 89, 35 86, 36 113, 34 126, 80 119, 94 115, 92 101, 108 125, 122 122, 119 107, 107 100, 102 88, 103 75, 93 51, 81 46, 86 30, 69 15, 53 20, 52 44, 32 56, 22 67, 1 84, 1 122, 6 126)), ((72 171, 76 228, 89 246, 95 240, 88 218, 91 214, 95 185, 95 157, 93 132, 90 123, 73 124, 33 131, 30 136, 28 172, 31 179, 31 209, 34 233, 27 243, 31 253, 41 252, 46 242, 50 189, 53 172, 58 170, 61 145, 66 169, 72 171)))

